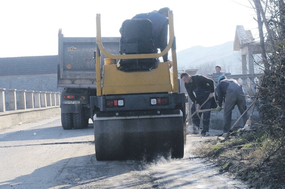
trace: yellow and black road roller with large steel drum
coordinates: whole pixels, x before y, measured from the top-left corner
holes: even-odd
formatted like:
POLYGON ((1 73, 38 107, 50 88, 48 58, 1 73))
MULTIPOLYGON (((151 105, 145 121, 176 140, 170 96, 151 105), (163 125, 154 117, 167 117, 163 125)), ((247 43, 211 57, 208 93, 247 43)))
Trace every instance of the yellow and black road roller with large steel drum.
POLYGON ((97 95, 90 96, 90 104, 97 160, 184 156, 187 99, 179 93, 172 11, 169 43, 161 53, 153 53, 154 45, 145 37, 151 35, 149 22, 131 19, 122 24, 117 55, 104 47, 101 15, 96 16, 97 95), (173 72, 168 62, 156 62, 170 49, 173 72))

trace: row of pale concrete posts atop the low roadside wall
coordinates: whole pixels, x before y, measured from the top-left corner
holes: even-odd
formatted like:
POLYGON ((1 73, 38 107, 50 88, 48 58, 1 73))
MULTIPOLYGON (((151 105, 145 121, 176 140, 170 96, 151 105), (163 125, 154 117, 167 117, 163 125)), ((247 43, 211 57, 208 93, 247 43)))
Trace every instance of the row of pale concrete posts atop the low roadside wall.
POLYGON ((60 93, 17 89, 6 90, 5 88, 0 88, 0 112, 33 108, 46 108, 49 106, 59 105, 60 93), (5 91, 7 91, 6 93, 8 94, 8 107, 5 105, 5 91))

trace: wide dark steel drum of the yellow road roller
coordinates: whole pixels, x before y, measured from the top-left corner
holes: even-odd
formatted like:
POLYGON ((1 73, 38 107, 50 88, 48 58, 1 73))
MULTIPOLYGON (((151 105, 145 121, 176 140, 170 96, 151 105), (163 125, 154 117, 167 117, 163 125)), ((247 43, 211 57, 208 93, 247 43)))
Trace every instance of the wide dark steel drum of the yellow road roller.
POLYGON ((94 119, 97 160, 183 158, 183 116, 179 114, 94 119))

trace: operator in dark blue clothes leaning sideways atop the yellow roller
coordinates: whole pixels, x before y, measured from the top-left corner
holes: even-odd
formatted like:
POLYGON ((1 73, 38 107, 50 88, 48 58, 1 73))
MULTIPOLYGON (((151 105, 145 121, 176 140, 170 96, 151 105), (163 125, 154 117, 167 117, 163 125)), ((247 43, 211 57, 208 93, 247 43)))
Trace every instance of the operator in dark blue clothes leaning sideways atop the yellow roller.
MULTIPOLYGON (((148 13, 141 13, 134 16, 132 19, 148 19, 152 22, 152 36, 153 42, 157 49, 162 52, 167 46, 168 35, 168 7, 154 10, 148 13)), ((120 29, 121 32, 121 29, 120 29)), ((156 51, 156 53, 158 50, 156 51)), ((168 59, 168 53, 162 56, 164 62, 169 63, 169 68, 172 67, 172 61, 168 59)))

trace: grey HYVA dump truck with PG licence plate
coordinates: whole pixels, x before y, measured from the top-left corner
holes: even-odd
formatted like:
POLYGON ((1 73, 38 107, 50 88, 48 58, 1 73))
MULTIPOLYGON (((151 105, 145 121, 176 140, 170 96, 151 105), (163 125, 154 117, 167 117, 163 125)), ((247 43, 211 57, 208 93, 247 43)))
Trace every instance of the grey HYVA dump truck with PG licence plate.
MULTIPOLYGON (((103 37, 102 43, 108 51, 119 54, 119 40, 103 37)), ((64 88, 60 100, 63 129, 81 129, 88 126, 89 118, 93 119, 90 96, 97 93, 94 49, 96 37, 64 37, 59 29, 57 86, 64 88)), ((101 63, 103 66, 103 60, 101 63)))

